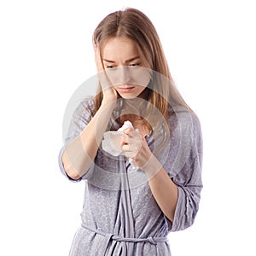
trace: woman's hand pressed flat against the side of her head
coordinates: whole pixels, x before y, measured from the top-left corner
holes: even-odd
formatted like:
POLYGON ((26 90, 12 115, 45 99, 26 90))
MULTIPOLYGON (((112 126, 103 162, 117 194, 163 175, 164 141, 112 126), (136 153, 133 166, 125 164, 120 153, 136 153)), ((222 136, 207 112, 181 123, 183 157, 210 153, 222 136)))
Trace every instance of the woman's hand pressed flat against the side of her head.
POLYGON ((108 79, 108 75, 105 72, 105 68, 102 65, 100 49, 98 48, 96 43, 93 43, 93 47, 95 52, 98 79, 100 80, 100 84, 102 86, 103 101, 115 102, 118 98, 118 92, 114 89, 113 84, 111 84, 110 80, 108 79))

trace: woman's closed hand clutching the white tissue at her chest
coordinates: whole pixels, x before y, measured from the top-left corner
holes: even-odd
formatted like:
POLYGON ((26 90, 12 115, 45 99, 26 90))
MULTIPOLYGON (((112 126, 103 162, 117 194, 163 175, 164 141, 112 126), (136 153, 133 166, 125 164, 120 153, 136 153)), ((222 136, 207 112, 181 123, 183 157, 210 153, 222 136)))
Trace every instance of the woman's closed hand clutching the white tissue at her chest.
POLYGON ((123 131, 127 136, 122 137, 121 147, 125 156, 131 158, 137 167, 147 172, 148 163, 152 164, 154 154, 152 154, 145 137, 139 131, 132 128, 123 131))

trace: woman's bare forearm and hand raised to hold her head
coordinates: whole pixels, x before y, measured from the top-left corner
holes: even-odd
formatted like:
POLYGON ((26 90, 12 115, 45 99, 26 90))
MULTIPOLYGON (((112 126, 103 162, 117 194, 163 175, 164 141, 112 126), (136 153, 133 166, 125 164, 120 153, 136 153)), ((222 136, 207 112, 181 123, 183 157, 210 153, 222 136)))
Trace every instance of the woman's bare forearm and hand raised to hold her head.
POLYGON ((78 179, 88 172, 90 165, 96 157, 97 150, 102 142, 103 133, 107 129, 109 119, 118 98, 117 91, 110 84, 102 66, 100 52, 96 44, 94 44, 94 50, 103 99, 101 107, 90 120, 90 123, 86 125, 84 130, 81 131, 72 143, 68 144, 62 154, 64 170, 73 179, 78 179))

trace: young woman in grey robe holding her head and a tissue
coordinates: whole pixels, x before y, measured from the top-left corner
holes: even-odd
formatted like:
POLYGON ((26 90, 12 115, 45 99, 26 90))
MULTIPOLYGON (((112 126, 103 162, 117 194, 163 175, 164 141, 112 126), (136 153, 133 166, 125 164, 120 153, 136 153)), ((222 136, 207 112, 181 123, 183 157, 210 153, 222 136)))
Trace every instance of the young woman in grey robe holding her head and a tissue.
POLYGON ((193 224, 199 207, 200 122, 173 85, 142 12, 108 15, 93 44, 98 91, 73 113, 59 158, 66 177, 85 181, 70 255, 171 255, 168 232, 193 224), (109 132, 119 154, 108 151, 109 132))

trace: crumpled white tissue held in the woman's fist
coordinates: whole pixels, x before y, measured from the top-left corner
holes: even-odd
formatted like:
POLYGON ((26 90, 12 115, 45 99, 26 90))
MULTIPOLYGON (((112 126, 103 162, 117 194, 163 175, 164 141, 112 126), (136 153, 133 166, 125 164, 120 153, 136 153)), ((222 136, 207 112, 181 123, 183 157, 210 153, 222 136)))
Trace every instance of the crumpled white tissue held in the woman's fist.
MULTIPOLYGON (((102 139, 102 149, 114 156, 118 156, 121 154, 125 155, 121 148, 120 140, 121 140, 121 137, 127 136, 123 132, 127 128, 133 128, 130 121, 125 121, 124 125, 120 127, 118 131, 104 132, 103 139, 102 139)), ((134 169, 137 169, 137 166, 134 164, 132 159, 129 159, 129 163, 134 169)))

